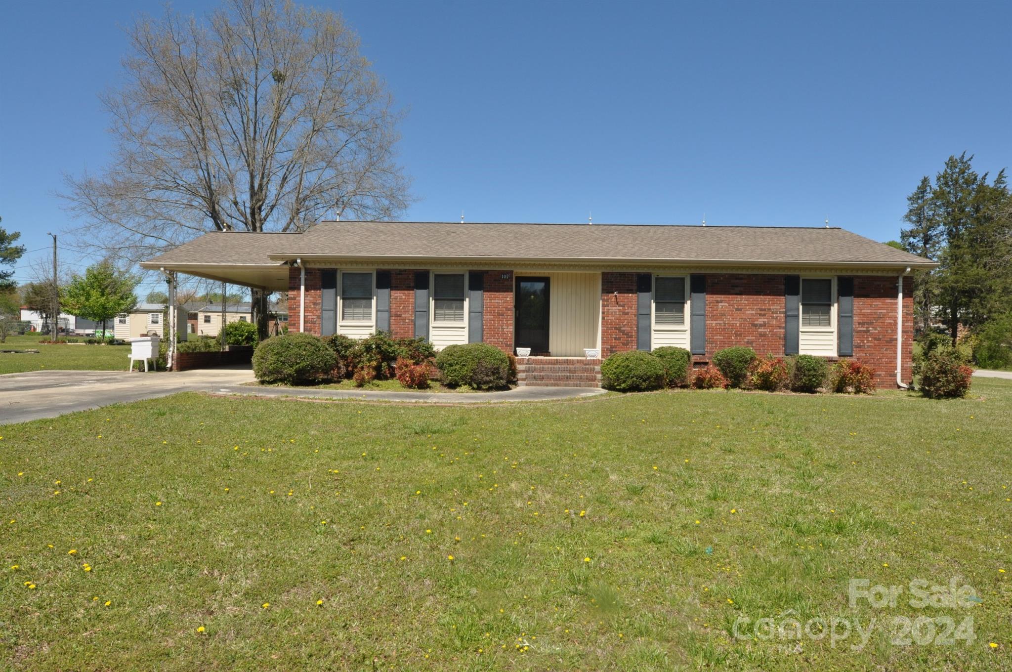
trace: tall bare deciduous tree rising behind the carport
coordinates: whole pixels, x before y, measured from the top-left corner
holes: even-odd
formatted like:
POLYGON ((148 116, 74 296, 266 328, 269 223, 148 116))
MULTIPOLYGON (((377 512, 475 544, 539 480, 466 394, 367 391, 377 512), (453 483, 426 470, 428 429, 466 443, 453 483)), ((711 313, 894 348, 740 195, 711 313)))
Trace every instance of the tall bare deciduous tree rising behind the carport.
POLYGON ((125 83, 101 97, 111 161, 67 177, 83 244, 137 261, 206 231, 404 212, 400 114, 338 14, 226 0, 204 20, 142 17, 128 36, 125 83))

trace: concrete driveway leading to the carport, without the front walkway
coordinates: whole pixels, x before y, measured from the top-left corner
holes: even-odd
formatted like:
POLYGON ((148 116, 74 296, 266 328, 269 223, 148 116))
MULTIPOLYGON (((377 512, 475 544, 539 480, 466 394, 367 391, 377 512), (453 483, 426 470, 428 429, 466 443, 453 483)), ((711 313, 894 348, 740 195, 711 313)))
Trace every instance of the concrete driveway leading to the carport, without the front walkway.
POLYGON ((0 375, 0 424, 174 395, 223 392, 253 381, 249 364, 191 371, 30 371, 0 375))

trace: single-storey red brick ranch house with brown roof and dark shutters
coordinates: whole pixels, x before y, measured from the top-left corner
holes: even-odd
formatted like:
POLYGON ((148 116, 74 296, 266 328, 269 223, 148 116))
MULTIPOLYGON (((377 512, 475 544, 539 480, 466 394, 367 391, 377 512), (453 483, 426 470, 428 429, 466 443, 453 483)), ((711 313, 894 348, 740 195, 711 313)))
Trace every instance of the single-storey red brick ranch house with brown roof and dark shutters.
POLYGON ((141 265, 287 291, 291 331, 530 348, 528 384, 588 384, 594 351, 675 345, 702 365, 747 345, 853 357, 896 387, 910 272, 935 264, 829 227, 323 222, 208 233, 141 265))

